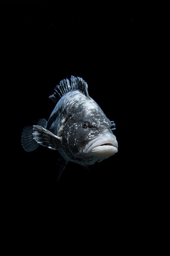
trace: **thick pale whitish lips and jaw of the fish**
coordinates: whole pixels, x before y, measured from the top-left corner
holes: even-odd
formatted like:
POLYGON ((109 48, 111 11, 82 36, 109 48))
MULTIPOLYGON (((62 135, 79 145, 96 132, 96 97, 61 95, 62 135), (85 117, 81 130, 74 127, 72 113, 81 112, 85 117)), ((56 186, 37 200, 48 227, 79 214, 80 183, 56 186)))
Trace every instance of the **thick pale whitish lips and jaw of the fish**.
POLYGON ((106 133, 88 141, 82 150, 82 154, 99 157, 99 159, 106 159, 111 155, 115 155, 117 151, 118 143, 115 135, 106 133))

